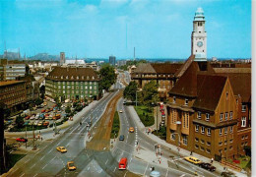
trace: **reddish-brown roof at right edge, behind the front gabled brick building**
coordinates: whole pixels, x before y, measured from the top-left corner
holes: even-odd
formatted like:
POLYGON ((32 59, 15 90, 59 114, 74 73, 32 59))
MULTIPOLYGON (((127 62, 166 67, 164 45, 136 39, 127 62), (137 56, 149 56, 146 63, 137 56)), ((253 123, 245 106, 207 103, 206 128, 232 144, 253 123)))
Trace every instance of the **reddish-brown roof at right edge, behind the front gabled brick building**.
POLYGON ((240 95, 242 102, 250 102, 251 98, 251 74, 250 73, 219 73, 227 76, 234 95, 240 95))

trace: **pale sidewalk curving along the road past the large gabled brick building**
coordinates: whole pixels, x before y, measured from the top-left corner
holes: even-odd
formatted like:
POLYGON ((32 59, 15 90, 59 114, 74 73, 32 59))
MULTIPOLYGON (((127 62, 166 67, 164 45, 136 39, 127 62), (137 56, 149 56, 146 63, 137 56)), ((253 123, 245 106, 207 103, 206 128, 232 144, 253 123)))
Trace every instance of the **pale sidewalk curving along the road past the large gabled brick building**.
MULTIPOLYGON (((129 112, 131 113, 131 115, 133 115, 133 119, 134 119, 136 125, 138 126, 138 129, 139 129, 141 132, 143 132, 146 136, 148 136, 148 137, 151 138, 152 140, 158 142, 158 143, 160 144, 160 146, 163 146, 163 147, 165 147, 165 148, 177 149, 176 146, 173 146, 173 145, 171 145, 171 144, 166 143, 165 141, 161 140, 159 137, 155 136, 154 134, 149 134, 149 135, 146 134, 146 129, 148 129, 148 128, 146 128, 146 127, 144 126, 144 124, 141 122, 141 120, 140 120, 140 118, 139 118, 139 116, 138 116, 136 110, 134 109, 134 107, 133 107, 133 106, 128 106, 128 110, 129 110, 129 112)), ((181 156, 190 156, 190 151, 188 151, 188 150, 186 150, 186 149, 183 149, 183 148, 180 148, 179 153, 180 153, 181 156)), ((202 161, 206 161, 206 162, 210 162, 210 161, 211 161, 210 158, 205 157, 205 156, 200 155, 200 154, 197 154, 197 153, 195 153, 195 152, 193 152, 193 156, 199 158, 199 159, 202 160, 202 161)), ((214 164, 214 166, 216 166, 216 168, 218 168, 219 170, 224 171, 224 165, 221 164, 220 162, 214 161, 213 164, 214 164)), ((232 171, 233 173, 235 173, 235 175, 237 175, 237 176, 239 176, 239 177, 240 177, 240 176, 244 176, 244 177, 247 176, 247 175, 245 175, 245 174, 243 174, 243 173, 236 172, 236 171, 234 171, 234 170, 228 170, 228 171, 232 171)))

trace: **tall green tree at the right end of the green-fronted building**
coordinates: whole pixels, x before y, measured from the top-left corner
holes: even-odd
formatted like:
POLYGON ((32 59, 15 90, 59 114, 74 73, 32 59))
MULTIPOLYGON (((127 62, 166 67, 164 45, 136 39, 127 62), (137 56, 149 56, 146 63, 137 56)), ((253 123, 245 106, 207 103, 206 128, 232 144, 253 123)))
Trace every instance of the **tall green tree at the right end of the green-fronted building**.
POLYGON ((116 81, 114 67, 110 66, 109 64, 105 64, 102 66, 102 68, 99 70, 99 76, 101 78, 99 90, 105 89, 106 91, 108 91, 108 89, 116 81))

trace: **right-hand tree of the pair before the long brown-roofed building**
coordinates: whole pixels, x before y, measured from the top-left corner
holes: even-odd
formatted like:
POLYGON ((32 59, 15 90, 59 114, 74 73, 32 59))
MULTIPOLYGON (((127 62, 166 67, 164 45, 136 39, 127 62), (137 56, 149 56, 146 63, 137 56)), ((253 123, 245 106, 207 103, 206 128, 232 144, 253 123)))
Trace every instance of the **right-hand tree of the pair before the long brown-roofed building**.
POLYGON ((159 85, 156 81, 151 81, 146 84, 141 91, 141 101, 144 105, 152 105, 152 103, 156 104, 160 100, 159 96, 159 85))

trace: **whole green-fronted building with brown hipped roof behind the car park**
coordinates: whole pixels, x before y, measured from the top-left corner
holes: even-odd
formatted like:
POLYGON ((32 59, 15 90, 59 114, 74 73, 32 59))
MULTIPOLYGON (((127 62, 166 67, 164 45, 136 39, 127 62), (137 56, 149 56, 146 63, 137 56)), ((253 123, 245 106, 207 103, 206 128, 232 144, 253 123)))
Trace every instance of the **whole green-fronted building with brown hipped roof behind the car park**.
POLYGON ((62 100, 98 99, 100 79, 92 68, 54 68, 45 79, 45 95, 62 100))

